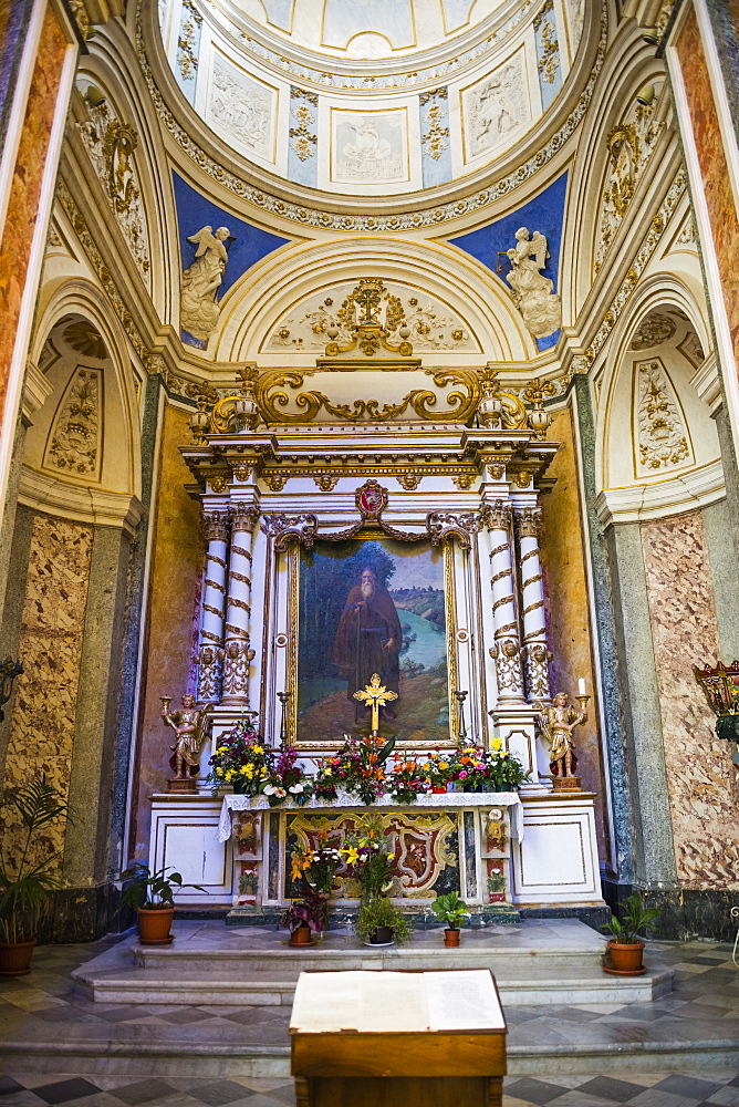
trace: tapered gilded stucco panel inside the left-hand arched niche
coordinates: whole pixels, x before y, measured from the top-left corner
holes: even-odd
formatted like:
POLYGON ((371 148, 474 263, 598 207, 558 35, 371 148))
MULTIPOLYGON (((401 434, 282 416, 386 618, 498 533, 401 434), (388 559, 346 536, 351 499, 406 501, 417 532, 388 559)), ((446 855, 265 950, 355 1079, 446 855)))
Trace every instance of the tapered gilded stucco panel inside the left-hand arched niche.
POLYGON ((80 366, 56 408, 44 453, 48 469, 100 480, 103 435, 103 371, 80 366))

